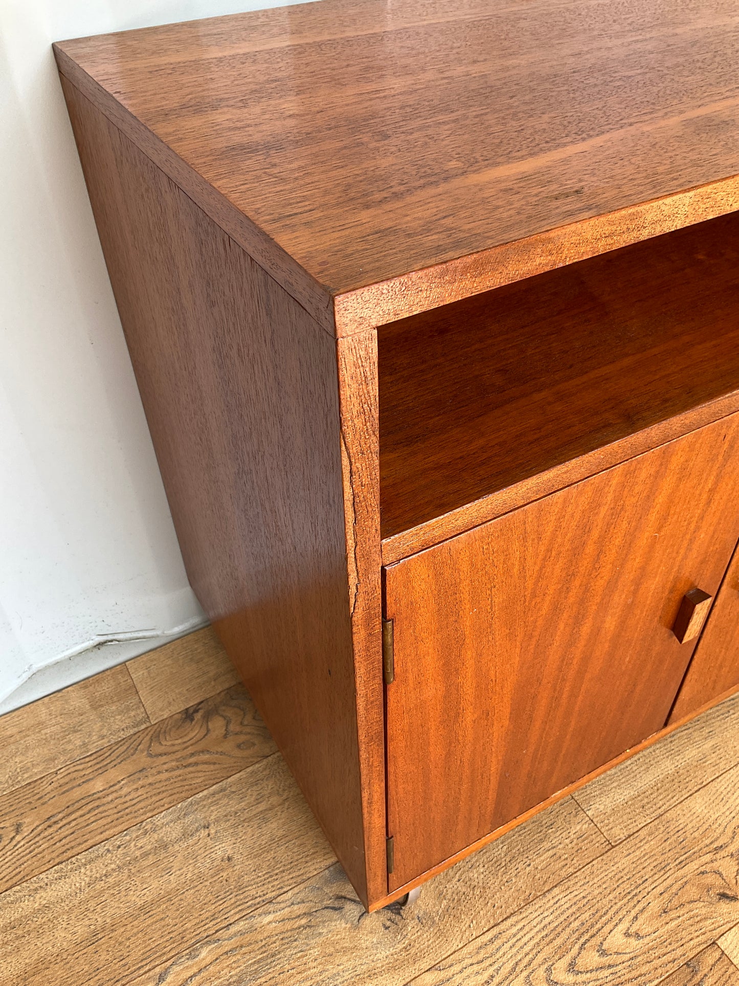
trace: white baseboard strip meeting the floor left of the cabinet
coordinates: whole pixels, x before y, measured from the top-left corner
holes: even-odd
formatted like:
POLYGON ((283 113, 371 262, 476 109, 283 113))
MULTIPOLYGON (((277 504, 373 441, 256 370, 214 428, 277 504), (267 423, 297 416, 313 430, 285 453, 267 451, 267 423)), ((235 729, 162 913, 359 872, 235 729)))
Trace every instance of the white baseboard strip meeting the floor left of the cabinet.
POLYGON ((77 681, 83 681, 100 671, 122 665, 124 661, 130 661, 131 658, 137 658, 140 654, 146 654, 147 651, 153 651, 206 626, 207 622, 196 616, 167 633, 145 630, 87 641, 50 664, 30 670, 24 680, 0 701, 0 715, 19 709, 22 705, 28 705, 29 702, 70 684, 76 684, 77 681))

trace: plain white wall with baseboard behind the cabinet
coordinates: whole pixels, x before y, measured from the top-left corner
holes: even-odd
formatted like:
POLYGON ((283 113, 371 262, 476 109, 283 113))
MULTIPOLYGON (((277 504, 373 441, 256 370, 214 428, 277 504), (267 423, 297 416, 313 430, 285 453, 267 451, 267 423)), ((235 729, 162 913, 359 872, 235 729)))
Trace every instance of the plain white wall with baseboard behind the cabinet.
POLYGON ((0 0, 0 712, 193 629, 53 40, 264 0, 0 0))

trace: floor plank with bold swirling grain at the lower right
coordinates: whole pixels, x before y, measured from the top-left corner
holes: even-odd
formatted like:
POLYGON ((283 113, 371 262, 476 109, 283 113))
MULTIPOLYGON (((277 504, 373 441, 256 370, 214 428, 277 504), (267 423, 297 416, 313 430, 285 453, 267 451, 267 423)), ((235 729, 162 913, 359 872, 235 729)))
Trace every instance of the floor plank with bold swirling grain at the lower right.
POLYGON ((739 767, 414 986, 649 986, 739 920, 739 767))

